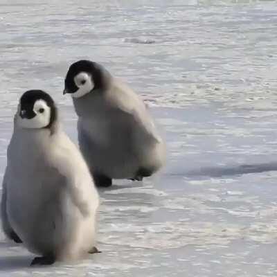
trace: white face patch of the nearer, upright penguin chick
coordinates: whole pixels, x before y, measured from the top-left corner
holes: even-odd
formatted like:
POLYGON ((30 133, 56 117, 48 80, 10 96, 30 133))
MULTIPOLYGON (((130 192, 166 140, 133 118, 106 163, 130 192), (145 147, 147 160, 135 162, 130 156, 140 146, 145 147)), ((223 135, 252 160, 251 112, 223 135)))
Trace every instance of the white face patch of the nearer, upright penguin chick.
POLYGON ((19 114, 21 113, 21 115, 23 115, 24 113, 26 113, 26 111, 17 111, 17 124, 22 128, 40 129, 46 127, 50 123, 51 108, 46 104, 44 100, 39 99, 35 101, 33 111, 35 112, 35 117, 30 119, 21 118, 19 114))

